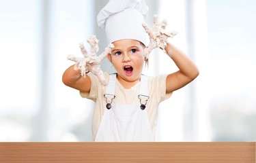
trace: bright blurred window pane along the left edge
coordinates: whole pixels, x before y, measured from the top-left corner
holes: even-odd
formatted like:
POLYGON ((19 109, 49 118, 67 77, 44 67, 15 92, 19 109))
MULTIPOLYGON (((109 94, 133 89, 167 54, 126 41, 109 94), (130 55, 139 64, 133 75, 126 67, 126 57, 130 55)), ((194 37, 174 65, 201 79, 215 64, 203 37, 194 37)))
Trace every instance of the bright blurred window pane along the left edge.
POLYGON ((28 141, 31 137, 38 92, 37 16, 36 1, 0 3, 0 141, 28 141))

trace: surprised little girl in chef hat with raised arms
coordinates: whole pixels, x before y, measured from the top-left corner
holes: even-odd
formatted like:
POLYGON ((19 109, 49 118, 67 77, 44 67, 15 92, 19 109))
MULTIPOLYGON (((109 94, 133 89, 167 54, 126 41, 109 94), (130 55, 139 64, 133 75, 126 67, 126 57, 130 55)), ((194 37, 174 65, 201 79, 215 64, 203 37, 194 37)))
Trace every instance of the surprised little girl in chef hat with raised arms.
POLYGON ((81 76, 81 70, 74 69, 76 65, 63 73, 66 86, 96 103, 94 141, 154 141, 159 103, 199 75, 194 63, 167 42, 165 33, 159 31, 156 39, 156 33, 144 24, 150 35, 147 46, 142 26, 146 14, 143 0, 110 0, 98 14, 98 24, 104 27, 107 40, 113 45, 106 57, 117 72, 104 73, 106 85, 96 73, 81 76), (167 53, 179 71, 156 77, 141 75, 148 54, 157 47, 167 53))

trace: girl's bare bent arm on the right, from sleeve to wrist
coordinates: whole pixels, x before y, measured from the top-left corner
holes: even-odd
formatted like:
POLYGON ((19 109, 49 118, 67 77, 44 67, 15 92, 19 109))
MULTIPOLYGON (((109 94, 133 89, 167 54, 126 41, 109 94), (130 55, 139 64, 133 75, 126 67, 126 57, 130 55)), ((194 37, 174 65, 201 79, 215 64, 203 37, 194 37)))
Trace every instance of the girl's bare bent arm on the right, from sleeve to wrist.
POLYGON ((190 83, 199 75, 199 70, 195 64, 190 60, 185 54, 180 52, 170 43, 167 43, 165 51, 170 56, 170 58, 175 62, 179 71, 171 73, 167 76, 166 80, 166 92, 173 92, 178 90, 186 84, 190 83))

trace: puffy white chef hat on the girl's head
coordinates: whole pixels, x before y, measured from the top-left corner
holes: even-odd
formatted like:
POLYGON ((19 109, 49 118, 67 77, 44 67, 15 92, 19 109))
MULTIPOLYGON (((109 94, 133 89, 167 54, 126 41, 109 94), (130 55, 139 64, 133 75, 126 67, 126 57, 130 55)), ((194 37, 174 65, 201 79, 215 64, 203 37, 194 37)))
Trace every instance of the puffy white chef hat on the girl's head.
POLYGON ((136 39, 147 45, 144 18, 148 7, 144 0, 109 0, 100 10, 98 26, 106 31, 108 43, 120 39, 136 39))

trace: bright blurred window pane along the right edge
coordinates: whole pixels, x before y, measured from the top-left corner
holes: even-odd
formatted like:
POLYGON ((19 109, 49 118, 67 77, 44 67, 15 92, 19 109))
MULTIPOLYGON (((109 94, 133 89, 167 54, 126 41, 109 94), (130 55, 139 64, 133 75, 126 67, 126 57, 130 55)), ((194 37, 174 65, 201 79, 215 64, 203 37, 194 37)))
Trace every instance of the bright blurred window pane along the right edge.
POLYGON ((256 141, 256 3, 207 2, 213 141, 256 141))

